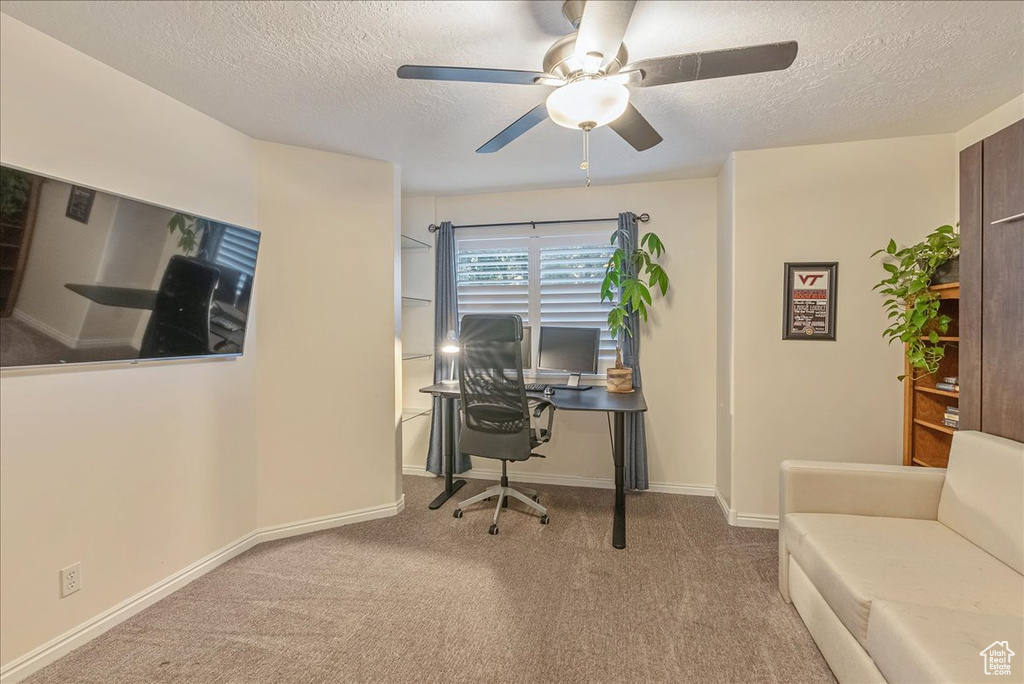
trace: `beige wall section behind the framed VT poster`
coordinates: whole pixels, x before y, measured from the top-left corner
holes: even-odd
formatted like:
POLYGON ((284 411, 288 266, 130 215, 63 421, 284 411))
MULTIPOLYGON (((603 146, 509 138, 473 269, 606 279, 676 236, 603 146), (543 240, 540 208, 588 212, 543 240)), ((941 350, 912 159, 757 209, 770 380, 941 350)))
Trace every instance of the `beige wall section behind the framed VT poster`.
POLYGON ((953 136, 735 154, 732 508, 777 515, 783 459, 901 462, 902 353, 871 252, 954 220, 953 136), (838 261, 836 342, 782 341, 782 264, 838 261))

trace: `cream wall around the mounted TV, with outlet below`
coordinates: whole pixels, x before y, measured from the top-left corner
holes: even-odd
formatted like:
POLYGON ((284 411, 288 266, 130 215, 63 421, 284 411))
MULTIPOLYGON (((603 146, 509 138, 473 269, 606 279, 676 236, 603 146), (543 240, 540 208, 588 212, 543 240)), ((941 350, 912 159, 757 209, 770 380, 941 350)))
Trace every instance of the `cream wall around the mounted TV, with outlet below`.
MULTIPOLYGON (((245 135, 6 14, 0 82, 5 164, 255 225, 245 135)), ((0 662, 253 529, 255 360, 0 376, 0 662)))

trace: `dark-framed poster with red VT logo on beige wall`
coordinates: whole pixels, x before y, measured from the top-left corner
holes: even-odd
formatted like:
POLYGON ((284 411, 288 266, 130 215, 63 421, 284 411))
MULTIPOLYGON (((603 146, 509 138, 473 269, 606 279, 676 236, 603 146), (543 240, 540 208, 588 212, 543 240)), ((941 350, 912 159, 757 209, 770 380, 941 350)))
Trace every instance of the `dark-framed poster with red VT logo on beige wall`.
POLYGON ((782 339, 836 341, 839 263, 785 264, 782 339))

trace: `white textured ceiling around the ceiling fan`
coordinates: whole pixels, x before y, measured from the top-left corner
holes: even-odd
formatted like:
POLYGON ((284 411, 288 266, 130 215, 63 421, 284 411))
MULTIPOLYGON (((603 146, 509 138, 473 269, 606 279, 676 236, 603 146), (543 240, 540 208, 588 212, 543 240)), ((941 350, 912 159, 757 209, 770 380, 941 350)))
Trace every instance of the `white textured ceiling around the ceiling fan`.
MULTIPOLYGON (((582 183, 582 135, 477 146, 550 88, 399 81, 402 63, 540 70, 550 2, 30 2, 2 11, 249 135, 396 162, 407 194, 582 183)), ((735 149, 950 132, 1024 91, 1021 2, 642 0, 632 59, 797 40, 784 72, 635 89, 665 136, 593 133, 596 184, 715 175, 735 149)))

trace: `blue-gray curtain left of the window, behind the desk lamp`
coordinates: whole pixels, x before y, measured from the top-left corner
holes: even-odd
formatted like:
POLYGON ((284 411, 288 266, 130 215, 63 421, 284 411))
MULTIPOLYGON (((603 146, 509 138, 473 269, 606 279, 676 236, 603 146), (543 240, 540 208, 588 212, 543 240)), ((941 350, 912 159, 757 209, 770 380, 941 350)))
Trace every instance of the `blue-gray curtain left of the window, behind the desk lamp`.
MULTIPOLYGON (((456 248, 455 228, 452 221, 443 221, 434 233, 434 382, 447 380, 452 377, 452 367, 457 354, 442 354, 441 342, 450 330, 459 334, 459 298, 456 290, 456 248)), ((444 451, 441 444, 441 401, 434 397, 433 411, 430 413, 430 447, 427 451, 427 470, 440 475, 443 470, 444 451)), ((458 402, 456 402, 458 405, 458 402)), ((469 470, 469 457, 458 452, 459 431, 462 421, 458 416, 456 424, 456 457, 455 472, 469 470)))

